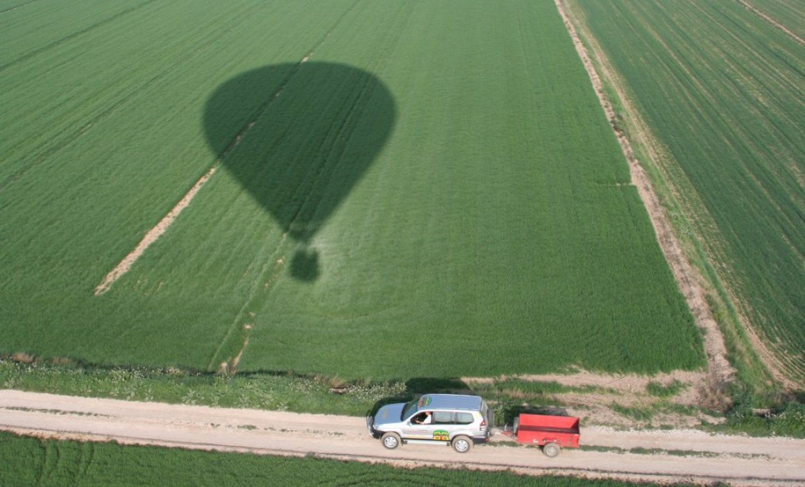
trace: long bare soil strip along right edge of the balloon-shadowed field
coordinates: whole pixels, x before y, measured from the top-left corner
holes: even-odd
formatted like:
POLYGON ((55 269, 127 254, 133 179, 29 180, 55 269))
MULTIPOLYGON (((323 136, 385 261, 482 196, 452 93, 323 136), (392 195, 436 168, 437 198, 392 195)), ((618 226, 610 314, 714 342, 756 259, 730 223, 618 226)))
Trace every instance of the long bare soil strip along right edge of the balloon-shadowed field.
MULTIPOLYGON (((559 14, 564 20, 565 27, 568 28, 568 32, 573 39, 573 44, 576 46, 576 52, 579 54, 579 57, 584 63, 584 68, 587 70, 588 75, 590 76, 593 89, 597 94, 598 100, 601 102, 601 107, 604 109, 606 116, 610 121, 615 120, 615 112, 605 95, 601 77, 596 72, 596 69, 592 64, 592 60, 588 55, 587 49, 584 47, 584 43, 581 42, 581 39, 576 32, 576 27, 574 27, 573 23, 568 17, 567 11, 570 11, 570 9, 567 9, 566 11, 563 0, 555 0, 555 4, 556 8, 559 10, 559 14)), ((594 48, 597 59, 602 61, 602 65, 605 65, 603 62, 605 60, 604 53, 600 48, 594 48)), ((609 73, 605 74, 607 75, 608 80, 617 90, 618 96, 622 101, 624 101, 626 108, 629 109, 630 112, 633 112, 634 109, 628 105, 628 97, 625 97, 624 90, 617 84, 617 78, 614 76, 609 76, 609 73)), ((679 241, 676 239, 673 228, 667 219, 662 204, 660 204, 658 197, 654 192, 654 188, 650 183, 649 177, 646 175, 646 171, 643 170, 640 161, 634 155, 634 151, 631 147, 629 139, 626 138, 624 134, 616 130, 615 126, 613 126, 613 130, 617 136, 617 141, 621 144, 621 150, 623 151, 626 160, 629 162, 632 184, 634 184, 634 186, 638 189, 638 194, 640 195, 643 204, 646 206, 646 210, 649 213, 651 225, 654 226, 654 232, 657 235, 660 248, 663 250, 663 254, 665 254, 668 265, 671 267, 671 271, 674 274, 674 278, 679 286, 679 290, 682 291, 685 299, 687 300, 687 305, 691 308, 691 312, 696 319, 696 324, 703 332, 704 351, 708 357, 708 375, 706 380, 714 384, 718 382, 729 382, 732 380, 735 371, 732 365, 729 365, 729 361, 727 361, 727 349, 724 343, 724 336, 721 335, 718 324, 716 324, 716 320, 713 319, 712 313, 710 312, 707 304, 707 300, 705 299, 706 294, 703 285, 704 279, 699 271, 691 266, 689 262, 687 262, 687 258, 679 246, 679 241)), ((641 136, 646 138, 647 134, 641 134, 641 136)))

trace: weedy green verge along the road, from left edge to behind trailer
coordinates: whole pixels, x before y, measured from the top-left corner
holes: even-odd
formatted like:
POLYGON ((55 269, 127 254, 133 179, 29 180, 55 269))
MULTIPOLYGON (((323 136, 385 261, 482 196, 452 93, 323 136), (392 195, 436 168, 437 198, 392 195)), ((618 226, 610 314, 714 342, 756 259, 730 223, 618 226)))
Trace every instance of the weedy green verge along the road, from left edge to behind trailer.
POLYGON ((469 386, 458 379, 415 378, 407 382, 343 381, 300 374, 209 374, 182 369, 101 367, 64 360, 27 363, 0 357, 0 388, 130 401, 157 401, 212 407, 242 407, 361 416, 388 402, 416 394, 479 394, 497 410, 498 423, 522 411, 556 413, 550 394, 596 388, 556 382, 493 381, 469 386), (56 362, 56 363, 54 363, 56 362), (523 404, 540 404, 539 409, 523 404))

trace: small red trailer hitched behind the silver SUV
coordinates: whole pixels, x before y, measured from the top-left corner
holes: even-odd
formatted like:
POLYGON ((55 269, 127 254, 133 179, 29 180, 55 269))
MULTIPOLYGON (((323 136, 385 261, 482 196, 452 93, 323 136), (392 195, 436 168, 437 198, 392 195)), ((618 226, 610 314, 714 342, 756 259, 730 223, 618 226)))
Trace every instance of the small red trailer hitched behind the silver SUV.
POLYGON ((503 431, 521 444, 535 444, 547 456, 559 455, 560 448, 579 448, 579 419, 572 416, 520 414, 512 431, 503 431))

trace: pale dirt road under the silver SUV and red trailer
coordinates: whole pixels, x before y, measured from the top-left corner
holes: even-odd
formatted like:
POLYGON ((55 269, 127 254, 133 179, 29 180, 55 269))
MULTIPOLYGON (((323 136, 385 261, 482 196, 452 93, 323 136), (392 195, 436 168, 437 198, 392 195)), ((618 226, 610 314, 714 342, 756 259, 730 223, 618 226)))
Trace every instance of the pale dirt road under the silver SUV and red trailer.
POLYGON ((61 439, 250 451, 263 454, 431 464, 529 474, 646 481, 726 481, 732 485, 805 485, 805 440, 753 439, 700 431, 582 430, 582 444, 549 459, 502 435, 460 455, 446 447, 405 445, 390 451, 367 433, 365 420, 158 402, 78 398, 0 390, 0 429, 61 439), (615 448, 606 451, 606 448, 615 448), (643 453, 623 449, 645 448, 643 453))

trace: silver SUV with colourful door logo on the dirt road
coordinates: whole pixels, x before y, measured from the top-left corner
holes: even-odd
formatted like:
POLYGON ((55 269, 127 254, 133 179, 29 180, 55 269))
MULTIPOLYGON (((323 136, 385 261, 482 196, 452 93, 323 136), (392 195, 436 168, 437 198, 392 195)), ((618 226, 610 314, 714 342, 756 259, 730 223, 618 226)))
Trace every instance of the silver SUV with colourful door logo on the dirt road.
POLYGON ((403 443, 449 444, 466 453, 476 442, 489 441, 493 411, 480 396, 426 394, 381 407, 367 425, 389 449, 403 443))

